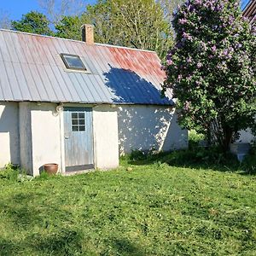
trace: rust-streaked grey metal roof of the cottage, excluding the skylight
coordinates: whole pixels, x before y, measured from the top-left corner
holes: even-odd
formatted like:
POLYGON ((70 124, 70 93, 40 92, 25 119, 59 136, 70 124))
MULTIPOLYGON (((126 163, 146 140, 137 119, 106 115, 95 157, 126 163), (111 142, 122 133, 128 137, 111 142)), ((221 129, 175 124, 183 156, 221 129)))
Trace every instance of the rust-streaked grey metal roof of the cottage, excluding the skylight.
POLYGON ((172 104, 155 52, 0 30, 0 101, 172 104), (89 73, 67 70, 79 55, 89 73))

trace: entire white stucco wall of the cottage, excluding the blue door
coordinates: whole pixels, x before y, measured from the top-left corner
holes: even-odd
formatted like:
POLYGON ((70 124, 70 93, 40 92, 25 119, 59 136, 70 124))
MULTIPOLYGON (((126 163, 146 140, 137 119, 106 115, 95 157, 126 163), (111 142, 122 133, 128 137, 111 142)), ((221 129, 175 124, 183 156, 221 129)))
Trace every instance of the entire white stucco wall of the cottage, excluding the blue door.
MULTIPOLYGON (((62 171, 63 113, 56 114, 55 108, 55 103, 0 102, 0 167, 12 162, 37 176, 44 164, 53 162, 62 171)), ((95 166, 100 169, 119 166, 119 153, 169 151, 186 148, 188 141, 174 109, 158 106, 94 106, 93 133, 95 166)))

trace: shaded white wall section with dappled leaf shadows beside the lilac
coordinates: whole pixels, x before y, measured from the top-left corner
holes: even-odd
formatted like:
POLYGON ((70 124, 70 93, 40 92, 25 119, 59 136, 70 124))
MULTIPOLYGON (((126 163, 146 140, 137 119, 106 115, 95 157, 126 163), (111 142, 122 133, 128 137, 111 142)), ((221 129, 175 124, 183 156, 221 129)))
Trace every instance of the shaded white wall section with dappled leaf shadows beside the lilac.
POLYGON ((121 106, 118 123, 119 154, 132 149, 170 151, 188 146, 188 131, 177 125, 174 108, 121 106))

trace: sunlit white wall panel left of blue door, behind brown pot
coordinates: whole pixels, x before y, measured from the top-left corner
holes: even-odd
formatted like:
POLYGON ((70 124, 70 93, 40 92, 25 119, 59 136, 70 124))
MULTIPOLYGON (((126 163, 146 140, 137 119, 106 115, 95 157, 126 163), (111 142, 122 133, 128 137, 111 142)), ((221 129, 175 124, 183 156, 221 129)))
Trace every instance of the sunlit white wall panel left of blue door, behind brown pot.
POLYGON ((54 103, 31 103, 32 169, 37 176, 44 164, 56 163, 61 172, 60 114, 54 103))

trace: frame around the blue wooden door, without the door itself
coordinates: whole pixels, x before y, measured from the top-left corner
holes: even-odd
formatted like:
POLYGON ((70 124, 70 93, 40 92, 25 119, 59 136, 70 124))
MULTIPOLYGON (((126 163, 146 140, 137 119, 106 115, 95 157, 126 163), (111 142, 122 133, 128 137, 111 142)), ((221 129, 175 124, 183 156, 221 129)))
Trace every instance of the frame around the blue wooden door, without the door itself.
MULTIPOLYGON (((95 142, 95 132, 94 132, 94 114, 93 108, 95 104, 79 104, 79 103, 66 103, 62 105, 62 109, 59 113, 60 116, 60 140, 61 140, 61 173, 72 173, 66 172, 66 155, 65 155, 65 118, 64 118, 64 108, 91 108, 91 136, 92 136, 92 154, 93 154, 93 169, 96 169, 96 142, 95 142)), ((85 171, 78 171, 78 172, 90 172, 91 169, 85 171)), ((76 172, 76 171, 73 171, 76 172)))

